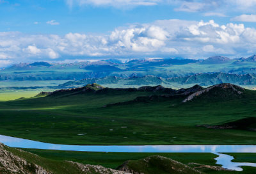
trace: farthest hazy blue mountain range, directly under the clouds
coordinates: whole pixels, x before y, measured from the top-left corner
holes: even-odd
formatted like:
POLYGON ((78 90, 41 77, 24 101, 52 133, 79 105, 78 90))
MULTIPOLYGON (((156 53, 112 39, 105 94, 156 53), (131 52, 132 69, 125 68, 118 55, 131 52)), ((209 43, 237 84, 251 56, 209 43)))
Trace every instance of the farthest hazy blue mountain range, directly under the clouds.
POLYGON ((186 77, 195 74, 223 72, 229 74, 256 74, 256 56, 247 59, 228 59, 213 56, 204 61, 196 59, 133 59, 127 63, 118 59, 107 61, 81 61, 76 63, 19 63, 0 70, 0 81, 52 81, 81 80, 86 78, 186 77))

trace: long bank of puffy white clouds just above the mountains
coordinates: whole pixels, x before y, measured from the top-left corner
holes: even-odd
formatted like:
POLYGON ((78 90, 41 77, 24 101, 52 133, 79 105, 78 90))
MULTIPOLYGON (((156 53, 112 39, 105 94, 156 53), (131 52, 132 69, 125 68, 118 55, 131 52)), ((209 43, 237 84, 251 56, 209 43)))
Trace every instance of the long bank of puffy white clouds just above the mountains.
POLYGON ((165 57, 177 54, 187 58, 205 58, 214 54, 248 54, 248 51, 255 50, 255 45, 256 29, 245 28, 243 24, 221 26, 214 20, 172 19, 131 24, 116 28, 109 35, 0 32, 0 59, 9 62, 29 59, 65 61, 65 58, 81 57, 165 57))

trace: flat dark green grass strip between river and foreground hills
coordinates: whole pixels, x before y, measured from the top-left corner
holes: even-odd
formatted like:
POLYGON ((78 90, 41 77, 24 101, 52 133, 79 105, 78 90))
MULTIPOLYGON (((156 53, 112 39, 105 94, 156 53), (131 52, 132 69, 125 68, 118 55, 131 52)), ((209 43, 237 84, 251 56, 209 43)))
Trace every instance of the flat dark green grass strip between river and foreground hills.
MULTIPOLYGON (((106 168, 115 169, 122 162, 127 160, 143 159, 152 155, 161 155, 163 157, 169 157, 175 161, 188 164, 189 162, 195 162, 199 164, 206 164, 211 166, 220 166, 214 160, 217 155, 210 153, 104 153, 104 152, 74 152, 63 150, 38 150, 38 149, 22 149, 33 154, 40 155, 47 159, 56 161, 75 161, 83 164, 100 164, 106 168)), ((234 162, 256 162, 256 154, 240 154, 232 153, 237 161, 234 162)), ((243 166, 244 171, 214 171, 204 169, 205 173, 235 173, 235 174, 252 174, 255 172, 255 168, 243 166)))

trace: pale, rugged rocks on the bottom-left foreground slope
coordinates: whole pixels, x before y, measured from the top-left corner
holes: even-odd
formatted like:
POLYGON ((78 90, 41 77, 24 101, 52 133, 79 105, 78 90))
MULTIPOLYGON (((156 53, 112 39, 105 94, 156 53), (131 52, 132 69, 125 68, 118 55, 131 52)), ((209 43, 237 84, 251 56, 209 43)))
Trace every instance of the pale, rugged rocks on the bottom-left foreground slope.
MULTIPOLYGON (((29 157, 29 160, 33 158, 33 161, 42 160, 42 157, 39 157, 38 155, 31 154, 30 152, 25 152, 23 150, 19 150, 15 148, 10 148, 0 143, 0 173, 3 173, 3 174, 18 174, 18 173, 19 174, 53 174, 54 173, 49 169, 39 166, 38 164, 28 162, 26 159, 20 156, 29 157)), ((118 171, 118 170, 113 170, 109 168, 104 168, 103 166, 100 166, 100 165, 81 164, 73 161, 65 161, 65 162, 66 164, 71 163, 71 166, 69 167, 71 167, 73 170, 76 170, 76 171, 78 170, 80 171, 79 173, 84 173, 84 174, 90 174, 90 173, 131 174, 126 171, 118 171)), ((66 167, 65 164, 63 164, 63 166, 60 166, 59 168, 62 168, 61 170, 63 171, 63 168, 65 167, 66 167)), ((77 173, 76 171, 74 171, 74 173, 77 173)), ((67 171, 67 173, 69 174, 70 171, 67 171)))

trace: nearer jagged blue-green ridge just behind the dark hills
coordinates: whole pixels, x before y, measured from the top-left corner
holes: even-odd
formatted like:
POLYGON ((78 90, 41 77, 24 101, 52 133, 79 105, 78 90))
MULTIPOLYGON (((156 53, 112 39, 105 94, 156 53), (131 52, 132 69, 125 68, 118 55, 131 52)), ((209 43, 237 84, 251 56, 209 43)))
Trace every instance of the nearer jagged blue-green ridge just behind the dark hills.
POLYGON ((199 84, 201 86, 210 86, 220 83, 234 83, 240 85, 255 85, 256 75, 246 74, 226 74, 226 73, 213 73, 213 74, 195 74, 186 77, 172 77, 161 78, 152 75, 144 77, 103 77, 93 79, 82 79, 79 81, 68 81, 67 83, 60 84, 59 86, 84 86, 86 84, 97 83, 100 85, 116 84, 116 86, 143 86, 143 85, 163 85, 170 86, 172 84, 199 84))

